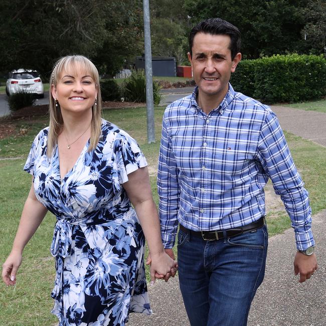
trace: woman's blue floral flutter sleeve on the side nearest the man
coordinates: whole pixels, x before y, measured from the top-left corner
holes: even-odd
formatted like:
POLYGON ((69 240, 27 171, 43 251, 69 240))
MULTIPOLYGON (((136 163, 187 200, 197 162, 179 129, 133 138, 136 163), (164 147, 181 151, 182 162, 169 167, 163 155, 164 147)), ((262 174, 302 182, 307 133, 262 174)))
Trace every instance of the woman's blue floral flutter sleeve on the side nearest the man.
POLYGON ((136 140, 122 130, 115 140, 113 150, 120 184, 128 181, 128 174, 147 166, 146 158, 136 140))

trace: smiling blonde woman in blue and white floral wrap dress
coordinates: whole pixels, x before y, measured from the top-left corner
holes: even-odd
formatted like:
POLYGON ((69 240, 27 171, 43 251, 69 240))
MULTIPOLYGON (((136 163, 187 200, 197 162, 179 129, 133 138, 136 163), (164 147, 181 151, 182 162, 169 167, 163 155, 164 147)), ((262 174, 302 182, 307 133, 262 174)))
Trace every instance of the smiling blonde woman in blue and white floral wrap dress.
POLYGON ((59 325, 124 325, 129 312, 151 313, 143 234, 151 283, 177 266, 160 240, 147 162, 133 138, 101 119, 99 76, 87 58, 61 58, 50 85, 50 125, 24 167, 33 184, 2 276, 16 283, 23 249, 49 210, 59 325))

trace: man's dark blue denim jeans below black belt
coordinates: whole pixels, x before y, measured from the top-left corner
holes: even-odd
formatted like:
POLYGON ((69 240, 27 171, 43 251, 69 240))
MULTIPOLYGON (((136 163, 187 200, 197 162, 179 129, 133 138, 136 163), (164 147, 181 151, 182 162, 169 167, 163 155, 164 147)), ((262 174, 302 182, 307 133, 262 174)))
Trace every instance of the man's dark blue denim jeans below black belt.
POLYGON ((264 278, 267 246, 265 225, 215 241, 179 231, 179 282, 192 326, 247 325, 264 278))

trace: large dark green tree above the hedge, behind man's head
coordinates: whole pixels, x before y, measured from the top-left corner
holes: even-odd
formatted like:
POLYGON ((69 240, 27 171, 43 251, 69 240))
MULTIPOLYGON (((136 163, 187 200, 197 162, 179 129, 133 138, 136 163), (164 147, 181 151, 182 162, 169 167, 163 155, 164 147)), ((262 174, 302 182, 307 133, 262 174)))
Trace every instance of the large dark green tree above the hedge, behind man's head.
POLYGON ((237 26, 242 35, 242 53, 246 58, 263 55, 304 52, 301 37, 304 26, 302 0, 185 0, 192 22, 220 17, 237 26))

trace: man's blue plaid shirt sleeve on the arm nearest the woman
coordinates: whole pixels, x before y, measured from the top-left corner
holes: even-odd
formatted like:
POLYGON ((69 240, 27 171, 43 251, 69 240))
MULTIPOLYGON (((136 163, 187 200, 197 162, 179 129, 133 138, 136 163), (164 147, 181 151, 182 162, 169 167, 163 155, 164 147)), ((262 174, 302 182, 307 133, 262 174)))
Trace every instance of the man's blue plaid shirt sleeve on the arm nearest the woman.
POLYGON ((171 138, 167 130, 165 117, 162 122, 160 141, 157 191, 159 196, 159 218, 161 237, 165 248, 173 248, 178 230, 178 210, 180 187, 178 183, 178 167, 172 151, 171 138))

